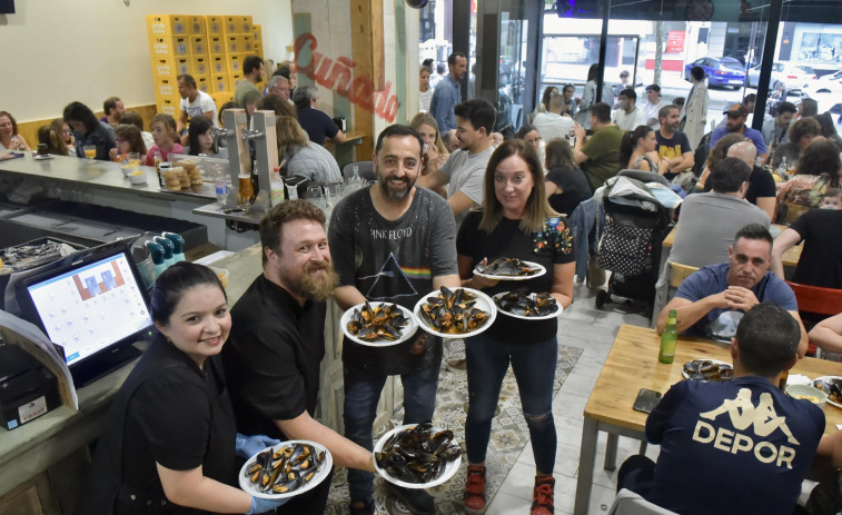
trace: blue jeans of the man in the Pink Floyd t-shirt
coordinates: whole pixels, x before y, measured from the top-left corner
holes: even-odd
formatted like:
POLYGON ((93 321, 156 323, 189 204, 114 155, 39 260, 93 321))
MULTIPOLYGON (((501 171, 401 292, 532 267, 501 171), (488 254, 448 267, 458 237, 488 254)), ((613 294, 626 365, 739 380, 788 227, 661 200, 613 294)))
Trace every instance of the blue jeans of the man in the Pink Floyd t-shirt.
MULTIPOLYGON (((433 419, 436 409, 436 387, 439 366, 434 365, 412 374, 402 374, 404 385, 404 424, 433 419)), ((345 376, 345 437, 355 444, 374 449, 372 429, 380 400, 385 375, 355 374, 344 367, 345 376)), ((374 494, 374 475, 369 472, 348 468, 348 491, 351 501, 367 499, 374 494)))

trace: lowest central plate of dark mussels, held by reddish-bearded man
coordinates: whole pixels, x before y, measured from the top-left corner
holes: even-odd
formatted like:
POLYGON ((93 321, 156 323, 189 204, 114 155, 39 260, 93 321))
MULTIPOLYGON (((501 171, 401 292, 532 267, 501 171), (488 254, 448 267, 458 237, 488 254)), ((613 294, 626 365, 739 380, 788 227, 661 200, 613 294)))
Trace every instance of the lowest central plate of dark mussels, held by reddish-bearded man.
POLYGON ((387 432, 377 440, 372 455, 374 468, 389 483, 403 486, 405 488, 432 488, 438 486, 452 478, 462 463, 462 448, 455 442, 453 432, 433 427, 429 422, 423 424, 407 424, 398 426, 387 432), (400 445, 402 434, 416 433, 427 434, 430 439, 430 446, 426 450, 420 448, 416 443, 400 445), (397 445, 396 445, 397 444, 397 445), (404 462, 388 462, 389 453, 399 453, 404 450, 400 458, 404 462), (425 456, 413 458, 416 453, 424 453, 425 456), (379 459, 378 459, 379 458, 379 459), (405 463, 409 462, 409 464, 405 463), (413 463, 415 462, 415 463, 413 463), (434 467, 429 472, 413 472, 419 466, 434 467), (428 475, 429 477, 424 477, 428 475), (400 477, 397 477, 400 476, 400 477))

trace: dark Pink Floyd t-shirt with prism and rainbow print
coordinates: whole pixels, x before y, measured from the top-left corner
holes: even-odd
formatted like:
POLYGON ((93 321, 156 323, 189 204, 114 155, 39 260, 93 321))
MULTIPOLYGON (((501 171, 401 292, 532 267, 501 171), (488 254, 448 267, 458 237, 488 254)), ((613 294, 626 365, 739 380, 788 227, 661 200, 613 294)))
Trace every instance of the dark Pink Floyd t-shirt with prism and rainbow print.
MULTIPOLYGON (((416 188, 413 204, 397 220, 377 212, 368 188, 349 195, 334 209, 327 236, 339 286, 354 286, 368 300, 412 310, 433 290, 434 277, 458 274, 453 210, 425 188, 416 188)), ((424 334, 419 329, 407 341, 388 347, 368 347, 345 338, 343 364, 351 373, 375 375, 438 366, 442 339, 427 335, 422 347, 424 334)))

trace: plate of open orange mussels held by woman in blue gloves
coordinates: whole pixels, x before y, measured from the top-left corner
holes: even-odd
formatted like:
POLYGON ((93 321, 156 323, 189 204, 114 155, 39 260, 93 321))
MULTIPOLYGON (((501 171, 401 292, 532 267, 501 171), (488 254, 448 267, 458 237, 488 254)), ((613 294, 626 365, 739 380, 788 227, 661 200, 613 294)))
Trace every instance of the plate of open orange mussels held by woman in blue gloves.
POLYGON ((330 474, 334 457, 321 444, 306 439, 266 447, 240 468, 240 488, 262 499, 295 497, 316 487, 330 474))

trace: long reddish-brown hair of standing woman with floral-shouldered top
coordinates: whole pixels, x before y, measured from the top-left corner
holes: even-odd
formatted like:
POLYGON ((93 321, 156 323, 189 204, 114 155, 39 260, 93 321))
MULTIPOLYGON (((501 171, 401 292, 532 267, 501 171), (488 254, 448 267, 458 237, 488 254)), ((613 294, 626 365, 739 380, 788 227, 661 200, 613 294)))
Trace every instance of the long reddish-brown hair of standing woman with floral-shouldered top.
POLYGON ((509 139, 497 147, 488 160, 485 169, 485 191, 483 194, 483 218, 479 220, 479 229, 492 232, 503 219, 503 206, 494 190, 494 175, 499 164, 512 156, 519 156, 526 161, 535 186, 532 187, 529 198, 526 200, 526 214, 521 220, 521 230, 535 232, 544 227, 544 222, 551 216, 558 216, 546 199, 544 187, 544 174, 541 169, 541 160, 535 149, 522 139, 509 139))

